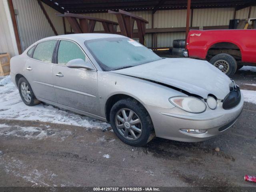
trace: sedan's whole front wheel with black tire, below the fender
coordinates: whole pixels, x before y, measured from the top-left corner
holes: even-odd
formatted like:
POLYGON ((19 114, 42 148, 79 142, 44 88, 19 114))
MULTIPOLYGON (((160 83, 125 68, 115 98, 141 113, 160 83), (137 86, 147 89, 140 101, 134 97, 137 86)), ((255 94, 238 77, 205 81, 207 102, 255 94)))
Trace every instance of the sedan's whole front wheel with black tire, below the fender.
POLYGON ((131 146, 144 146, 155 136, 154 126, 148 112, 142 104, 132 98, 119 100, 112 106, 110 110, 110 124, 116 136, 122 140, 122 142, 131 146), (130 112, 133 112, 132 118, 130 120, 124 118, 122 110, 125 110, 126 117, 128 118, 130 112), (118 120, 118 116, 122 119, 122 122, 118 120), (140 122, 130 125, 134 120, 140 122), (128 125, 126 124, 127 122, 129 122, 128 125), (122 128, 117 128, 118 125, 122 128), (135 126, 136 130, 141 130, 141 132, 135 131, 132 126, 135 126), (126 130, 128 134, 126 134, 126 130), (135 136, 138 136, 138 138, 132 136, 132 132, 135 136))

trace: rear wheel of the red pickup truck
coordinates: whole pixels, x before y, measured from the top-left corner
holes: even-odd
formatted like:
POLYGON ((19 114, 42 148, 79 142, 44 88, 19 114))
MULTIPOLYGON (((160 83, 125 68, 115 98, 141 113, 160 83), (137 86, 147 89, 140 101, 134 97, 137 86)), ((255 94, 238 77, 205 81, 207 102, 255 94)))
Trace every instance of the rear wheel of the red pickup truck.
POLYGON ((234 75, 237 69, 237 62, 235 58, 226 53, 221 53, 214 56, 211 58, 210 63, 224 72, 227 76, 234 75))

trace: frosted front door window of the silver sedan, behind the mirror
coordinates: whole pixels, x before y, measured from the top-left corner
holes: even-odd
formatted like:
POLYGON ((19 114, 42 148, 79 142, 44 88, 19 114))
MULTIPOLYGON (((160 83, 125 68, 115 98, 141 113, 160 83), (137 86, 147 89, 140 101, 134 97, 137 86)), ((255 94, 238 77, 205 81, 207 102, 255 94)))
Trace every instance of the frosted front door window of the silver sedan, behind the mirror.
POLYGON ((73 59, 82 59, 85 61, 84 52, 74 42, 61 40, 58 49, 58 64, 66 65, 73 59))

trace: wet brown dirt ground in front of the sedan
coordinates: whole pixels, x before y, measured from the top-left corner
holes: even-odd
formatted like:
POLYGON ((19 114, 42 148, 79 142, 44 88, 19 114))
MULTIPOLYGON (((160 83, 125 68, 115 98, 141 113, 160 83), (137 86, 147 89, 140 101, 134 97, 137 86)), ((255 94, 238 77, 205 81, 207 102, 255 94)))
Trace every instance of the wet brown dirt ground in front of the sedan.
MULTIPOLYGON (((256 73, 238 72, 255 90, 256 73)), ((205 142, 122 143, 109 128, 0 119, 0 186, 255 186, 256 105, 205 142), (220 148, 219 152, 215 148, 220 148)))

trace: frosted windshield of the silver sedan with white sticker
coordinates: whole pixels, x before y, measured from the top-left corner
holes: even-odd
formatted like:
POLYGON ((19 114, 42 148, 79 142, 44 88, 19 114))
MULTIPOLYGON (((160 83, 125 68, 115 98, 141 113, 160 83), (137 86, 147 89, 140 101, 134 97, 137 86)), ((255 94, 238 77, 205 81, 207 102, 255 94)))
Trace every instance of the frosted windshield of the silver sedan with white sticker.
POLYGON ((129 38, 102 38, 85 42, 105 71, 133 67, 162 59, 152 50, 129 38))

